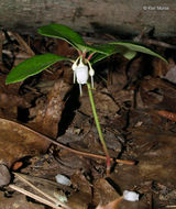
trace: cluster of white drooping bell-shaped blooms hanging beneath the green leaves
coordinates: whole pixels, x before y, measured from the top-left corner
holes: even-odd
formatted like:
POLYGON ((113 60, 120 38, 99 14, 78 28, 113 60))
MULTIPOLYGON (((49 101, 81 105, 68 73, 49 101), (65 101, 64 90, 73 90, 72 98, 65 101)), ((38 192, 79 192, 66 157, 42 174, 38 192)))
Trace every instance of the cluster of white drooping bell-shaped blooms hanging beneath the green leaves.
POLYGON ((91 64, 88 61, 87 61, 87 63, 88 63, 88 65, 85 64, 82 62, 82 57, 79 56, 72 66, 72 68, 74 70, 74 82, 77 79, 77 82, 79 84, 80 95, 82 95, 81 85, 87 84, 89 76, 91 77, 91 87, 94 88, 95 70, 92 69, 91 64))

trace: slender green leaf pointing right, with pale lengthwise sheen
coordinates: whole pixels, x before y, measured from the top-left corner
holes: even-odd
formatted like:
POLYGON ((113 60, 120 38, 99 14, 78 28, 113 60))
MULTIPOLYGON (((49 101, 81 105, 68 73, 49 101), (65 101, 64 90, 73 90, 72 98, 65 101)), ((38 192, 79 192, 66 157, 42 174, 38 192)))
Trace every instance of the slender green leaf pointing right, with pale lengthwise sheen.
POLYGON ((116 46, 124 46, 127 47, 129 51, 133 51, 133 52, 140 52, 140 53, 144 53, 144 54, 148 54, 148 55, 152 55, 152 56, 156 56, 163 61, 165 61, 167 63, 167 61, 162 57, 161 55, 158 55, 157 53, 151 51, 150 48, 146 48, 144 46, 141 46, 141 45, 138 45, 138 44, 133 44, 133 43, 125 43, 125 42, 112 42, 110 43, 112 45, 116 45, 116 46))

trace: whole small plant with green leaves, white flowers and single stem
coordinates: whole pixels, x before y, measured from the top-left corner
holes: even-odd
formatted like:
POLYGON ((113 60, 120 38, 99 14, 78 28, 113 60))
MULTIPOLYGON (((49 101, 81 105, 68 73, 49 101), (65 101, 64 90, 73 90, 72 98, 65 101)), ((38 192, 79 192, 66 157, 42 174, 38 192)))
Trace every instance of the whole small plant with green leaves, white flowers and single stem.
POLYGON ((24 80, 30 76, 41 73, 42 70, 46 69, 47 67, 59 61, 72 62, 73 63, 72 69, 74 70, 74 82, 77 80, 79 85, 80 95, 82 94, 81 85, 87 85, 92 113, 95 117, 95 122, 99 133, 100 142, 102 144, 103 151, 107 156, 107 174, 109 174, 110 156, 108 153, 106 142, 102 136, 102 131, 100 128, 91 92, 91 88, 94 88, 94 75, 95 75, 92 65, 116 53, 120 53, 128 59, 133 58, 138 52, 156 56, 163 61, 165 59, 158 54, 154 53, 153 51, 134 43, 111 42, 108 44, 100 44, 100 45, 87 45, 78 33, 76 33, 68 26, 62 24, 50 24, 42 26, 38 29, 38 33, 41 35, 45 35, 48 37, 65 40, 77 50, 78 57, 76 58, 76 61, 73 61, 72 58, 57 56, 51 53, 44 55, 35 55, 29 59, 25 59, 24 62, 20 63, 16 67, 14 67, 8 75, 6 84, 12 84, 24 80), (90 76, 91 86, 88 81, 89 76, 90 76))

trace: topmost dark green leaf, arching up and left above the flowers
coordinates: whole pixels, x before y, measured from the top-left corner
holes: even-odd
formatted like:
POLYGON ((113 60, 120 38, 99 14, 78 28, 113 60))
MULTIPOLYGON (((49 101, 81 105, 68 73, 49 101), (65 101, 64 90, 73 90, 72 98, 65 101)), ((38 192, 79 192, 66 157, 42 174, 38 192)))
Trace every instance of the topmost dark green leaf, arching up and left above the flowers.
POLYGON ((82 37, 78 33, 63 24, 48 24, 45 26, 41 26, 37 32, 41 35, 45 35, 48 37, 65 40, 80 51, 84 48, 85 45, 82 37))

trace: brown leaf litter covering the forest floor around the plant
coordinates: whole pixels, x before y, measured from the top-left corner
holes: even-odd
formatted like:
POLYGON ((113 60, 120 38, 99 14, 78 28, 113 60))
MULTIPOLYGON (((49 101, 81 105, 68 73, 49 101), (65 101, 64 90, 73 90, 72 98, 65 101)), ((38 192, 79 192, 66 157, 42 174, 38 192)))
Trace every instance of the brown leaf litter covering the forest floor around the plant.
POLYGON ((176 38, 157 41, 147 46, 168 64, 139 54, 132 61, 113 55, 95 66, 97 113, 114 160, 107 176, 106 158, 88 155, 105 153, 87 87, 79 96, 69 63, 6 85, 10 69, 34 54, 77 52, 54 38, 0 33, 0 208, 51 208, 12 189, 40 195, 18 175, 72 209, 176 207, 176 51, 160 45, 174 46, 176 38), (68 184, 56 183, 58 174, 68 184), (140 200, 120 200, 124 190, 140 200))

